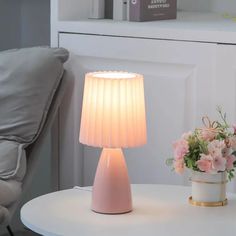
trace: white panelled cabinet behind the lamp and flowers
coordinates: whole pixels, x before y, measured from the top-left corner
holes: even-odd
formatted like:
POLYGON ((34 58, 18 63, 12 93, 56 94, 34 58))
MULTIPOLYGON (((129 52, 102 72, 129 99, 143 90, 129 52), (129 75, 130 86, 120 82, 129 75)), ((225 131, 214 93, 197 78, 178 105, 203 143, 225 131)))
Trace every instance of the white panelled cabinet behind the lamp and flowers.
POLYGON ((71 87, 59 119, 61 188, 91 185, 100 153, 78 140, 84 74, 88 71, 127 70, 145 77, 148 143, 125 150, 132 183, 187 184, 187 177, 177 176, 165 165, 173 141, 200 126, 203 115, 215 117, 217 105, 230 114, 230 121, 236 120, 232 21, 224 22, 211 13, 193 13, 198 20, 192 21, 191 28, 190 13, 181 14, 177 21, 162 23, 53 22, 56 40, 52 45, 71 52, 67 63, 71 87), (202 24, 204 20, 207 24, 202 24))

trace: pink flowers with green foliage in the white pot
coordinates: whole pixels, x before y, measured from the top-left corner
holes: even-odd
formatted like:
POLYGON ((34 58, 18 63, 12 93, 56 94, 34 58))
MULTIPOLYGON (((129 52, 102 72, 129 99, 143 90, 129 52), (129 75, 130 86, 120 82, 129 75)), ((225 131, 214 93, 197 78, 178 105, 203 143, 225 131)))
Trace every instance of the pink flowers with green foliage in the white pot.
POLYGON ((226 171, 234 177, 236 167, 236 126, 230 127, 226 114, 217 108, 221 122, 202 118, 204 127, 184 133, 173 144, 174 158, 169 159, 174 170, 182 174, 185 167, 194 171, 215 174, 226 171))

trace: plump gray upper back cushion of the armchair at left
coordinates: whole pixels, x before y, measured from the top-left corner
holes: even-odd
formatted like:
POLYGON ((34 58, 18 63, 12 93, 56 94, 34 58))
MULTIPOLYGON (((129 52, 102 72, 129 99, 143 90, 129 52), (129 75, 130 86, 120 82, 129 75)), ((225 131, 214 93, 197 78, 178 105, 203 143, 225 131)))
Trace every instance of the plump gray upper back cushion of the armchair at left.
POLYGON ((67 58, 65 49, 42 47, 0 53, 0 139, 36 139, 67 58))

